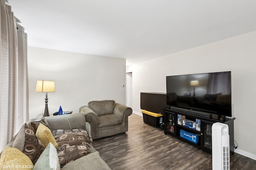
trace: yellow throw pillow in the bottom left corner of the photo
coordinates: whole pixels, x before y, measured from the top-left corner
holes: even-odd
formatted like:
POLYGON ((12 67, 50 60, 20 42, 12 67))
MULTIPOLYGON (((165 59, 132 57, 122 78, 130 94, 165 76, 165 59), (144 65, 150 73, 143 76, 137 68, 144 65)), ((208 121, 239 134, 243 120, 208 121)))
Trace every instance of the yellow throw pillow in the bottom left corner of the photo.
POLYGON ((0 170, 22 169, 32 170, 34 167, 30 158, 17 148, 4 147, 0 158, 0 170))

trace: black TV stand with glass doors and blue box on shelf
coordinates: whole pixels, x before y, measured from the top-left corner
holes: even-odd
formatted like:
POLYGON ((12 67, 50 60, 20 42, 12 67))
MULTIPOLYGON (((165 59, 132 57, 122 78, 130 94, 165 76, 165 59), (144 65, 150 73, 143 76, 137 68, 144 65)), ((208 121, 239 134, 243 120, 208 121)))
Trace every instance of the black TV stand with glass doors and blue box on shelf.
POLYGON ((234 154, 234 119, 218 117, 217 115, 193 114, 191 111, 163 108, 164 134, 173 135, 207 152, 212 152, 212 124, 216 122, 228 125, 230 139, 230 154, 234 154), (183 125, 183 120, 186 119, 183 125), (186 123, 187 122, 187 123, 186 123))

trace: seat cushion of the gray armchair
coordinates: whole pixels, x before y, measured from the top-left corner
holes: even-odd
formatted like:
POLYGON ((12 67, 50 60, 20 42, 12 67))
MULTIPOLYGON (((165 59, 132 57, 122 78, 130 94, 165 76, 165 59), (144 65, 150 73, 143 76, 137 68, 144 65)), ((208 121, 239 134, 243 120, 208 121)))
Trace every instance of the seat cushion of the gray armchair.
POLYGON ((119 125, 122 123, 122 118, 112 113, 108 115, 102 115, 98 117, 99 127, 108 127, 113 125, 119 125))

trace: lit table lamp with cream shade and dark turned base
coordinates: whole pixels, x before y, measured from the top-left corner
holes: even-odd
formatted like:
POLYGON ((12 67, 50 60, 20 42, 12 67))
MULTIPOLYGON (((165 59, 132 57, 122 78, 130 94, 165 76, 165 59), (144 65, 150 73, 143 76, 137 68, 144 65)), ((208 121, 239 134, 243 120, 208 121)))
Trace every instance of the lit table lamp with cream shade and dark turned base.
POLYGON ((37 80, 36 92, 45 92, 44 117, 50 116, 48 111, 48 92, 55 92, 55 82, 49 80, 37 80))

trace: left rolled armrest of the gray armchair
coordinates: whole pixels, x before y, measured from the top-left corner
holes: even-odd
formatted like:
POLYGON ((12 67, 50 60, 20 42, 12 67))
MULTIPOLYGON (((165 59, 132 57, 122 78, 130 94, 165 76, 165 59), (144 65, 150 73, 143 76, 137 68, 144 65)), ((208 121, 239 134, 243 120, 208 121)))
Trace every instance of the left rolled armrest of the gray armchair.
POLYGON ((90 132, 92 139, 97 139, 99 136, 98 115, 89 107, 82 106, 79 112, 85 115, 86 122, 90 124, 90 132))

